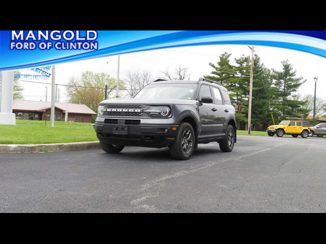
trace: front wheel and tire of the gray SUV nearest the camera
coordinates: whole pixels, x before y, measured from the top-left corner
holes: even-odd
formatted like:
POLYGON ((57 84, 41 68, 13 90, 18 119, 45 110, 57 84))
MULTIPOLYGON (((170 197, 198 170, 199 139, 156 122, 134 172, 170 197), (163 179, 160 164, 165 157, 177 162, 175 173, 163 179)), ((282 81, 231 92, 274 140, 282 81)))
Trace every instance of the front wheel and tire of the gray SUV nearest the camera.
POLYGON ((196 138, 191 124, 182 122, 177 130, 174 143, 170 146, 173 159, 187 160, 195 149, 196 138))

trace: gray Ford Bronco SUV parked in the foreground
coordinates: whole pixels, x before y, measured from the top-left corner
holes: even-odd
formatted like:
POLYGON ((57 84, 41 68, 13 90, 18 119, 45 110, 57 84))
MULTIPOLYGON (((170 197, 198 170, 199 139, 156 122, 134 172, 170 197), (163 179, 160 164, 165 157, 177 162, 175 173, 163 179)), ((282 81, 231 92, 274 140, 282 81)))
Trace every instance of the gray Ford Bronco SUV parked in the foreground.
POLYGON ((189 159, 199 143, 216 141, 230 152, 236 142, 228 91, 205 78, 159 79, 134 98, 104 100, 94 129, 106 153, 120 153, 125 145, 170 147, 177 160, 189 159))

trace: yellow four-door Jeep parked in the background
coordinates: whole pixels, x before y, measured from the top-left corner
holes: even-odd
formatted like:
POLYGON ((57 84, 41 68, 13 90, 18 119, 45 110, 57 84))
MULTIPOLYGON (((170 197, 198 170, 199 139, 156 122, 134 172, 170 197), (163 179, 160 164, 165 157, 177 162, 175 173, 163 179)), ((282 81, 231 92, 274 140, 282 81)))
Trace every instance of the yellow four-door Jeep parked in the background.
POLYGON ((310 125, 309 121, 283 120, 279 125, 269 126, 266 131, 268 136, 276 134, 278 137, 282 137, 288 134, 293 137, 301 135, 302 138, 307 138, 310 133, 310 125))

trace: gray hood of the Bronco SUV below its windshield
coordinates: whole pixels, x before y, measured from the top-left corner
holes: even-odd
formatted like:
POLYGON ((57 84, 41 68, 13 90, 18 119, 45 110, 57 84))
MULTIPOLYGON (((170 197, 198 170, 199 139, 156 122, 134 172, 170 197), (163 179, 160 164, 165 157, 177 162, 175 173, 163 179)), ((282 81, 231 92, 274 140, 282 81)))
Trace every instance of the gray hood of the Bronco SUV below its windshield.
POLYGON ((100 104, 186 104, 195 105, 196 100, 181 99, 134 99, 134 98, 113 98, 102 101, 100 104))

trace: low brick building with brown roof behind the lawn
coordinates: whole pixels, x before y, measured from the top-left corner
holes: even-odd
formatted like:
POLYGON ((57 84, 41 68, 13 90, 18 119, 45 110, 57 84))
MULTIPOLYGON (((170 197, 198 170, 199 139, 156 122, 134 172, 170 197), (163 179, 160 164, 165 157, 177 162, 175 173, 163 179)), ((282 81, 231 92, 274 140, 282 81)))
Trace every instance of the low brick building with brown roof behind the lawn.
MULTIPOLYGON (((57 121, 65 121, 66 111, 68 121, 91 123, 92 115, 96 113, 85 104, 55 103, 57 121)), ((49 120, 51 114, 50 102, 13 100, 13 113, 17 119, 49 120)))

